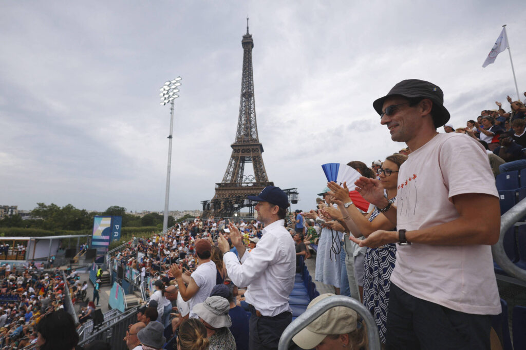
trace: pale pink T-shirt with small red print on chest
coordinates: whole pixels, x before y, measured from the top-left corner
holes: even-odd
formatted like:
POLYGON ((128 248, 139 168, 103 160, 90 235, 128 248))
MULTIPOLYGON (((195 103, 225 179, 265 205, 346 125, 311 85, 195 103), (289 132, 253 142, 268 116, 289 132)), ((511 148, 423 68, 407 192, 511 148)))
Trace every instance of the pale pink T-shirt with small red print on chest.
MULTIPOLYGON (((467 135, 438 134, 400 167, 397 229, 423 229, 458 218, 450 198, 466 193, 498 197, 488 155, 467 135)), ((449 309, 471 314, 501 312, 488 245, 398 246, 391 282, 449 309)))

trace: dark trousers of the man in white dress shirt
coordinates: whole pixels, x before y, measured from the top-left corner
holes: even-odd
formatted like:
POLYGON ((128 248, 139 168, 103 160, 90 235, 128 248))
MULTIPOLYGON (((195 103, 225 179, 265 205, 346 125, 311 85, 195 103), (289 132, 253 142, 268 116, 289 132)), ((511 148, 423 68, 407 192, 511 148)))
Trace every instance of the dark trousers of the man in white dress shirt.
POLYGON ((252 305, 249 305, 250 316, 248 348, 277 349, 279 337, 285 328, 292 322, 292 313, 282 312, 276 316, 258 316, 252 305))

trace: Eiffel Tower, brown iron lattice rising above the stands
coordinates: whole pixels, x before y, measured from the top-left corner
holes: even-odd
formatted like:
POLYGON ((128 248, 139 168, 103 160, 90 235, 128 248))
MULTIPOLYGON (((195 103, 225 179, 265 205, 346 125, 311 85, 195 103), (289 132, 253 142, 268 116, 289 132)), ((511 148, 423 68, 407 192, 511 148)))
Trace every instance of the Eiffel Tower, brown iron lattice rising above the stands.
POLYGON ((252 75, 252 48, 254 41, 248 33, 241 40, 243 47, 243 74, 241 78, 241 101, 237 122, 236 141, 230 146, 232 154, 220 183, 216 183, 216 194, 210 201, 201 201, 203 215, 216 217, 232 216, 242 207, 249 206, 248 195, 258 194, 266 186, 274 185, 268 181, 261 153, 263 145, 259 142, 256 124, 256 105, 254 100, 254 77, 252 75), (245 164, 252 163, 254 175, 245 176, 245 164))

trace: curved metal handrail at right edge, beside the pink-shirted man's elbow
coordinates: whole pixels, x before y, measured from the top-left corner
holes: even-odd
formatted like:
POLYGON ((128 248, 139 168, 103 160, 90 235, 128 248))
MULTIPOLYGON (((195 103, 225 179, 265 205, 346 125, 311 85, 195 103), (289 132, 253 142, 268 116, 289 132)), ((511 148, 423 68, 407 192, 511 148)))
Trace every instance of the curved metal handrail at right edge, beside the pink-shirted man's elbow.
POLYGON ((510 276, 517 278, 523 282, 526 282, 526 270, 523 270, 511 262, 510 258, 504 251, 504 235, 515 222, 521 221, 526 215, 526 198, 522 199, 519 203, 515 204, 510 210, 508 210, 500 218, 500 236, 499 241, 491 246, 491 253, 493 259, 499 267, 508 273, 510 276))

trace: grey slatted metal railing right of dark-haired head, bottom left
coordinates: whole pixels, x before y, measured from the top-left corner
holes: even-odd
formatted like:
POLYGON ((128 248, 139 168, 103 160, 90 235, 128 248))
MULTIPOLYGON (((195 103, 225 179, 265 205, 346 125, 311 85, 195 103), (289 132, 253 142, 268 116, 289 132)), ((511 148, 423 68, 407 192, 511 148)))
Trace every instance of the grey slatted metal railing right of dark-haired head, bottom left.
POLYGON ((123 338, 126 335, 128 326, 135 322, 137 322, 136 307, 109 319, 103 323, 100 330, 79 341, 78 345, 84 346, 95 340, 103 340, 111 345, 112 350, 125 350, 127 346, 123 338))

